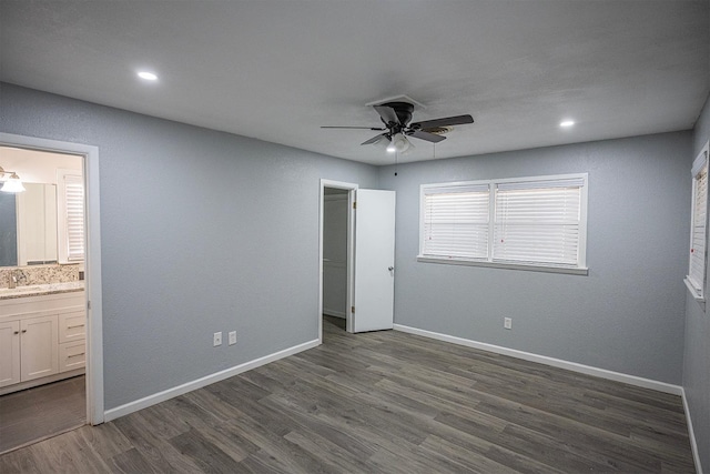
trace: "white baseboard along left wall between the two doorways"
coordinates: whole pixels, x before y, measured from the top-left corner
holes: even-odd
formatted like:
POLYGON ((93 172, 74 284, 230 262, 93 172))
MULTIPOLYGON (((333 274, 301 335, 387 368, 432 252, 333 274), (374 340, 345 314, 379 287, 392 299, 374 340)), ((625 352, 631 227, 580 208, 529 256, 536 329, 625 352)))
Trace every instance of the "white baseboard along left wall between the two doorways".
POLYGON ((242 372, 251 371, 252 369, 260 367, 262 365, 268 364, 270 362, 275 362, 280 359, 297 354, 298 352, 307 351, 308 349, 316 347, 320 344, 321 342, 318 340, 305 342, 303 344, 294 345, 293 347, 284 349, 283 351, 278 351, 273 354, 265 355, 263 357, 258 357, 240 365, 235 365, 234 367, 215 372, 211 375, 206 375, 192 382, 187 382, 182 385, 154 393, 134 402, 116 406, 115 409, 106 410, 103 414, 103 420, 104 422, 110 422, 111 420, 128 415, 129 413, 138 412, 139 410, 148 409, 149 406, 155 405, 170 399, 174 399, 175 396, 182 395, 184 393, 192 392, 193 390, 202 389, 205 385, 210 385, 215 382, 223 381, 224 379, 239 375, 242 372))

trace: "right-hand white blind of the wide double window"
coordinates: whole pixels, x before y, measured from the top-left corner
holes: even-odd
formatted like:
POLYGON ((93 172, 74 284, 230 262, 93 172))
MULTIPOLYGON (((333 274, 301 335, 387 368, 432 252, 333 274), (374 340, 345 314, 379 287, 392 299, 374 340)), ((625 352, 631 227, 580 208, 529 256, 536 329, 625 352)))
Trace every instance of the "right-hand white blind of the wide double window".
POLYGON ((579 265, 582 178, 496 184, 493 261, 579 265))

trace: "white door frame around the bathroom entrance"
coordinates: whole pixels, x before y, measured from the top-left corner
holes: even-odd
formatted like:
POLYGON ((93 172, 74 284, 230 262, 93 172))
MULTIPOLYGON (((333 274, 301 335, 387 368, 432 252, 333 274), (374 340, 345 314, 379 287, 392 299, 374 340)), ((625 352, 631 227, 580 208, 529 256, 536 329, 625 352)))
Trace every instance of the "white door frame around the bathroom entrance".
POLYGON ((85 200, 84 270, 87 301, 87 423, 104 421, 103 411, 103 316, 101 295, 101 220, 99 148, 83 143, 49 140, 0 132, 0 144, 53 153, 80 155, 83 162, 85 200))

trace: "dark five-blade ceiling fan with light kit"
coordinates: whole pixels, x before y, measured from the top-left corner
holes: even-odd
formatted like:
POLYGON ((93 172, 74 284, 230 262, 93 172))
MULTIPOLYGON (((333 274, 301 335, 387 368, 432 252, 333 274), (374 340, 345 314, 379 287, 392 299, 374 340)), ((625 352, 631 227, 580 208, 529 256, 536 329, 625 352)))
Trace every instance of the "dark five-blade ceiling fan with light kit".
POLYGON ((379 114, 379 120, 382 120, 385 128, 327 125, 321 128, 381 131, 384 133, 379 133, 361 144, 379 143, 383 140, 387 140, 389 141, 387 151, 404 153, 412 148, 412 143, 409 143, 407 137, 414 137, 419 140, 438 143, 446 140, 446 137, 443 137, 440 133, 445 131, 447 127, 474 123, 474 118, 470 115, 445 117, 443 119, 424 120, 422 122, 409 123, 412 121, 414 105, 408 102, 386 102, 379 105, 373 105, 373 108, 379 114))

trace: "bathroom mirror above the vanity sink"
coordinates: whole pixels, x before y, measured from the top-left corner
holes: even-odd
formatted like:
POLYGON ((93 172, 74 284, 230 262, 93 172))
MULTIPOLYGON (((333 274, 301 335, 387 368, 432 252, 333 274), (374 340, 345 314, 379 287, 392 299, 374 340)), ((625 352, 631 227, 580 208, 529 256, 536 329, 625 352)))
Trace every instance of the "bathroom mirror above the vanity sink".
POLYGON ((57 185, 24 183, 0 193, 0 266, 57 263, 57 185))

